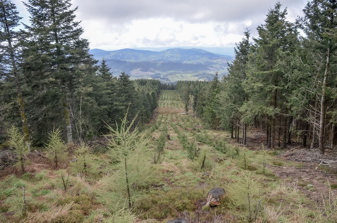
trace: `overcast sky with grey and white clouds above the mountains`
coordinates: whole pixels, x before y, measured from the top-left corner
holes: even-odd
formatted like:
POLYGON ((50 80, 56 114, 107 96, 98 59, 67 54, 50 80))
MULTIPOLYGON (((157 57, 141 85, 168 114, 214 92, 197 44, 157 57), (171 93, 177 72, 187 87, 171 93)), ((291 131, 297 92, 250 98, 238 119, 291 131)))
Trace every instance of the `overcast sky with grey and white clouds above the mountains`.
MULTIPOLYGON (((28 0, 23 0, 28 2, 28 0)), ((90 48, 233 46, 246 27, 257 36, 277 0, 72 0, 90 48)), ((20 0, 23 22, 29 14, 20 0)), ((283 0, 288 20, 302 15, 307 0, 283 0)))

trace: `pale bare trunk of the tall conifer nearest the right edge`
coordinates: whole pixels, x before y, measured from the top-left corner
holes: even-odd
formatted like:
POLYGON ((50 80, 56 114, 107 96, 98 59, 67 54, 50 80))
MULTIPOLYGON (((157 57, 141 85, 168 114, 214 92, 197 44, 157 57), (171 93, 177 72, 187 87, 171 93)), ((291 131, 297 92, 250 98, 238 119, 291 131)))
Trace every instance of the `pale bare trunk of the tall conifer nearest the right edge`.
POLYGON ((325 64, 324 79, 322 86, 322 98, 320 102, 320 120, 319 120, 319 135, 318 135, 318 149, 321 154, 324 154, 324 133, 325 133, 325 115, 326 115, 326 88, 329 75, 329 66, 330 66, 330 40, 328 40, 328 50, 327 50, 327 62, 325 64))

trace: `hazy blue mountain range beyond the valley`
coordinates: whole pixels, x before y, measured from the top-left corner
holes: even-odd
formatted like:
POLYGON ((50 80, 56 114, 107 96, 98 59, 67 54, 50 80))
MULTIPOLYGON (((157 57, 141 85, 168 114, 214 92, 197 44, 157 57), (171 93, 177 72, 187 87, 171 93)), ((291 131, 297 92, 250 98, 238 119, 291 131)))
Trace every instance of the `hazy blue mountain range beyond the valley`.
POLYGON ((215 71, 220 76, 226 72, 227 61, 231 56, 220 55, 202 49, 167 49, 148 51, 122 49, 89 51, 96 60, 106 60, 111 71, 116 75, 121 71, 132 78, 155 78, 164 82, 175 82, 180 79, 209 80, 215 71), (176 75, 175 75, 176 74, 176 75), (178 78, 177 78, 178 77, 178 78))

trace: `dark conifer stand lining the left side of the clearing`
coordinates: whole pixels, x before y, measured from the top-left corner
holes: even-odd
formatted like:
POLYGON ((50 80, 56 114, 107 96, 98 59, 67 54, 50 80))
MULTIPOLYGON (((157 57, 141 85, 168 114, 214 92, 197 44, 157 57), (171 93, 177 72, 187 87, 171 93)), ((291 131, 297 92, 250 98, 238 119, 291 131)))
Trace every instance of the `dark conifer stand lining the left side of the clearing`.
POLYGON ((16 5, 0 0, 0 141, 12 125, 36 146, 59 128, 67 142, 90 140, 128 107, 130 120, 139 113, 135 125, 151 118, 160 82, 114 76, 104 59, 96 65, 70 0, 24 4, 30 24, 20 29, 16 5))

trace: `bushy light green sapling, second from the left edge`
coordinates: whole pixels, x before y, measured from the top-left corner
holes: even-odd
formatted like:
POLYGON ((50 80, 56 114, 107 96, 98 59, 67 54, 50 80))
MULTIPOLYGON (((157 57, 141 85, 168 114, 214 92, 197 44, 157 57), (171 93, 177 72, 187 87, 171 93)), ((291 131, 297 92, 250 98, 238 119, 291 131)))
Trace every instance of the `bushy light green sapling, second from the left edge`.
POLYGON ((49 133, 49 142, 46 145, 45 153, 48 159, 55 163, 55 167, 67 161, 68 151, 66 151, 66 147, 62 141, 60 129, 54 129, 49 133))

